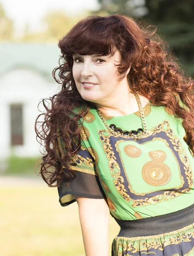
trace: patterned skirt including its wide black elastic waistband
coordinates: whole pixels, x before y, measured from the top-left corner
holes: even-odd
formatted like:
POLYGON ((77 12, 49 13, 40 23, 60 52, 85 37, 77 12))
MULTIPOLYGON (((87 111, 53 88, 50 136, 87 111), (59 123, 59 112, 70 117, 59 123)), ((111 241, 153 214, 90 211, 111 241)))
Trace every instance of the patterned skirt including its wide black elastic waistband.
POLYGON ((112 256, 194 256, 194 204, 156 217, 115 220, 120 233, 112 256))

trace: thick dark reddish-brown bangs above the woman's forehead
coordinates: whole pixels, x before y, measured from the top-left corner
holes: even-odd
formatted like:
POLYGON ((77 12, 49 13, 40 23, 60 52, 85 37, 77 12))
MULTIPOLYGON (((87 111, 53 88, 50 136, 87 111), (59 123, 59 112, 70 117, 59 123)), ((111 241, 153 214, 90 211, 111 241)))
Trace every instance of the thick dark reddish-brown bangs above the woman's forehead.
MULTIPOLYGON (((114 24, 115 25, 115 24, 114 24)), ((106 17, 96 17, 77 23, 62 39, 62 49, 66 56, 74 53, 81 55, 114 55, 117 50, 115 45, 114 30, 106 17), (109 23, 109 24, 108 24, 109 23), (110 26, 110 29, 108 29, 110 26)))

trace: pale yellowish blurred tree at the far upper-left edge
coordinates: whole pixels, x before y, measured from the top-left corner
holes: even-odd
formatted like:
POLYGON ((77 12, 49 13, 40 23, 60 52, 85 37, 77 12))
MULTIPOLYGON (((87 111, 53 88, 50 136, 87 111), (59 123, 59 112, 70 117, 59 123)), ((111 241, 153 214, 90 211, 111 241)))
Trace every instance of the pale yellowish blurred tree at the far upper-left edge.
POLYGON ((0 3, 0 40, 11 40, 13 38, 13 21, 7 17, 0 3))

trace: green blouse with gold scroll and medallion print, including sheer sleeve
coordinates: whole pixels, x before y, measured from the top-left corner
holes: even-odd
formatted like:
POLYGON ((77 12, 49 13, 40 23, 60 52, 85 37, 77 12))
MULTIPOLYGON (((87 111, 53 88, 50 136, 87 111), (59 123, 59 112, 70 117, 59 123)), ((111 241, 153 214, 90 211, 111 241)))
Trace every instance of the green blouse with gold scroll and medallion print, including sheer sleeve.
MULTIPOLYGON (((134 140, 114 137, 91 106, 83 122, 82 146, 74 157, 77 184, 58 188, 62 206, 74 202, 73 195, 80 192, 106 198, 115 218, 135 220, 194 203, 194 157, 184 140, 183 120, 167 107, 148 103, 143 110, 148 134, 134 140)), ((104 118, 123 130, 142 128, 139 111, 104 118)), ((63 140, 58 141, 63 151, 63 140)))

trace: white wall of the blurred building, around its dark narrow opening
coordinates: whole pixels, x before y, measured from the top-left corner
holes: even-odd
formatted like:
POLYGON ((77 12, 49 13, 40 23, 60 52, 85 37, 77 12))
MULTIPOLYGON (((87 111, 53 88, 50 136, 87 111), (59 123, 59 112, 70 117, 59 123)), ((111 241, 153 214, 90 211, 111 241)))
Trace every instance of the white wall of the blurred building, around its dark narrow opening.
MULTIPOLYGON (((0 78, 0 160, 10 154, 17 156, 39 156, 40 144, 36 141, 34 122, 40 114, 37 105, 40 99, 58 92, 57 82, 48 82, 39 73, 27 69, 17 69, 0 78), (10 104, 23 104, 24 145, 10 146, 11 127, 10 104)), ((42 108, 43 109, 43 108, 42 108)))

